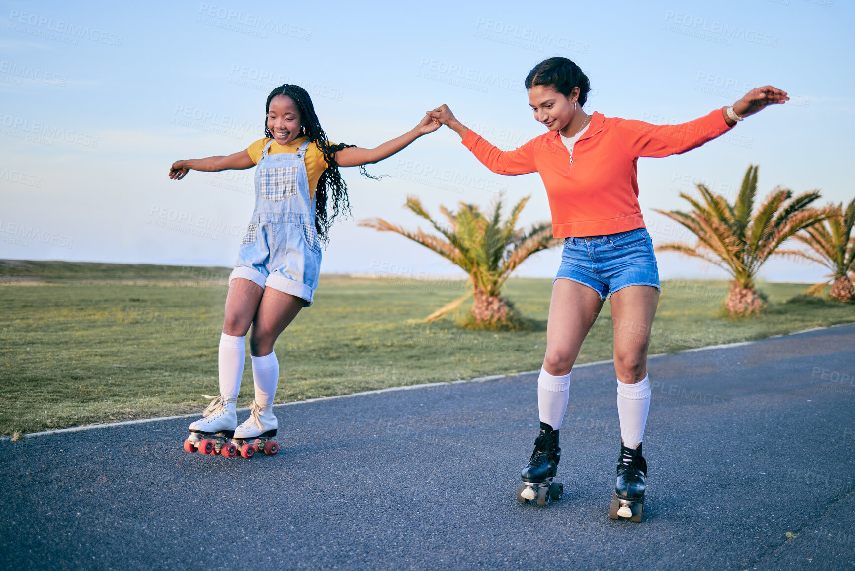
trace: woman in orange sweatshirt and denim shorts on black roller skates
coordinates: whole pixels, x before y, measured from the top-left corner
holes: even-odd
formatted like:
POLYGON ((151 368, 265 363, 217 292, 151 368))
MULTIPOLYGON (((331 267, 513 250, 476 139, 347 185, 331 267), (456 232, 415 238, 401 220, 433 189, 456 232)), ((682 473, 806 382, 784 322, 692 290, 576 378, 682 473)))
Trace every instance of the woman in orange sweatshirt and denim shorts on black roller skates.
POLYGON ((733 128, 787 93, 758 87, 732 106, 680 125, 652 125, 587 114, 587 76, 574 62, 551 57, 526 77, 534 119, 549 131, 516 151, 502 152, 457 121, 446 105, 431 113, 463 138, 463 145, 493 172, 538 172, 546 188, 552 232, 563 238, 553 281, 546 351, 538 378, 540 433, 522 469, 521 502, 561 497, 552 482, 561 449, 561 428, 570 373, 582 342, 609 298, 614 327, 617 413, 621 447, 609 515, 640 521, 646 461, 641 440, 650 407, 647 347, 659 300, 659 273, 638 201, 636 162, 687 152, 733 128))

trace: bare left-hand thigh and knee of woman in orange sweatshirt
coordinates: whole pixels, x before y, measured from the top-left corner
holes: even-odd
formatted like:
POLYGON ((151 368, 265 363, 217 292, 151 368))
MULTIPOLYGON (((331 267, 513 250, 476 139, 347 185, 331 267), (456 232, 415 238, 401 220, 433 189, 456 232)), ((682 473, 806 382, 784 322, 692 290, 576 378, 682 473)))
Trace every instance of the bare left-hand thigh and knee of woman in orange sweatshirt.
POLYGON ((570 372, 602 308, 603 301, 592 288, 571 280, 555 281, 546 324, 546 372, 557 377, 570 372))

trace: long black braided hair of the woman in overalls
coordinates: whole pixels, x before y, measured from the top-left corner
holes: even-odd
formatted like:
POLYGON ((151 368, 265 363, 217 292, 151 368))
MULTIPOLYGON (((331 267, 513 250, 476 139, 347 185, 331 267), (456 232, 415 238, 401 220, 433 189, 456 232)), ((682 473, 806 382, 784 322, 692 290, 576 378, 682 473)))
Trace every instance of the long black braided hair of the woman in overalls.
POLYGON ((347 197, 347 184, 341 178, 339 172, 339 164, 335 162, 335 153, 349 146, 339 143, 333 145, 327 139, 327 134, 321 128, 321 122, 318 121, 318 116, 315 114, 315 106, 312 105, 312 100, 309 93, 301 86, 295 86, 286 83, 276 87, 270 95, 268 95, 267 107, 264 113, 264 136, 273 139, 273 134, 267 127, 267 116, 270 112, 270 101, 274 97, 284 95, 297 104, 300 110, 300 132, 299 136, 309 137, 310 142, 315 143, 321 152, 323 158, 327 161, 327 168, 321 173, 321 178, 318 179, 317 187, 315 188, 315 230, 318 233, 318 238, 321 243, 326 244, 329 241, 329 229, 333 226, 335 217, 342 214, 347 216, 351 211, 351 201, 347 197), (330 194, 333 196, 333 216, 327 214, 327 201, 330 194))

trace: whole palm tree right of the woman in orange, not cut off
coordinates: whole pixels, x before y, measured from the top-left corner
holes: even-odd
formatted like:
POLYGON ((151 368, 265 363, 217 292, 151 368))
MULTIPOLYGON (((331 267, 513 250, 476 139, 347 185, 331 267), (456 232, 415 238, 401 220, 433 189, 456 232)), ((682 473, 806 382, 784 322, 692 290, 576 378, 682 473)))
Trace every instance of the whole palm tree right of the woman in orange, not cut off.
POLYGON ((721 194, 712 193, 699 184, 703 203, 680 193, 681 198, 693 206, 693 211, 656 210, 698 236, 697 246, 672 242, 658 247, 659 251, 679 252, 703 259, 727 271, 733 278, 724 300, 731 316, 760 312, 764 300, 754 288, 754 278, 760 267, 787 238, 830 216, 828 209, 808 207, 819 198, 818 191, 801 193, 793 198, 791 191, 780 187, 769 193, 763 205, 752 214, 757 195, 757 171, 758 166, 749 165, 734 205, 730 205, 721 194))

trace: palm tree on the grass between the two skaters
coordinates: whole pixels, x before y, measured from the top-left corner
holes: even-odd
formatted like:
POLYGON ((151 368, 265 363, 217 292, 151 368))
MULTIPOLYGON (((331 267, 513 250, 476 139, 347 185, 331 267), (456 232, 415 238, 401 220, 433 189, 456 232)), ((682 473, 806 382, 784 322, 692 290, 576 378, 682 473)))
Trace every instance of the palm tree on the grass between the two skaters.
POLYGON ((510 215, 502 221, 502 198, 492 205, 492 211, 482 213, 477 205, 459 203, 457 212, 439 206, 448 225, 445 226, 431 217, 415 196, 408 196, 404 208, 409 208, 428 220, 438 235, 428 235, 419 228, 415 232, 406 230, 381 218, 368 218, 359 225, 374 228, 381 232, 397 232, 428 247, 452 264, 459 266, 469 274, 471 291, 457 300, 433 312, 427 322, 431 322, 456 309, 469 296, 475 297, 472 305, 475 329, 510 330, 522 325, 513 312, 513 306, 501 295, 504 282, 510 277, 528 256, 560 243, 552 237, 551 223, 534 224, 528 230, 516 228, 517 218, 531 196, 521 199, 510 209, 510 215))

